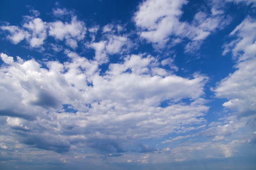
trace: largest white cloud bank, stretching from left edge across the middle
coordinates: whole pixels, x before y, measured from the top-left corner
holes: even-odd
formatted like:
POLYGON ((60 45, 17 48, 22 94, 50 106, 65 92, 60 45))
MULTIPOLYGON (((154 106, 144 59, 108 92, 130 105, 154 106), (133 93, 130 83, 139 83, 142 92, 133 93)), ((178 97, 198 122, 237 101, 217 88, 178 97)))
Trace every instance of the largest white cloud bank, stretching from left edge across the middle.
POLYGON ((66 54, 72 60, 70 63, 49 61, 49 69, 40 67, 33 59, 9 62, 12 57, 1 54, 9 62, 1 68, 0 87, 8 96, 1 98, 1 114, 20 117, 7 118, 7 124, 22 129, 22 136, 27 136, 22 138, 23 143, 64 152, 70 149, 69 143, 84 141, 101 151, 124 152, 122 141, 129 138, 151 138, 204 127, 202 116, 208 107, 201 96, 207 77, 157 76, 155 69, 160 63, 153 56, 142 55, 110 64, 106 74, 100 76, 97 62, 71 51, 66 54), (182 98, 189 98, 189 103, 183 103, 182 98), (167 101, 167 107, 159 107, 163 101, 167 101), (188 128, 191 124, 192 129, 188 128), (40 126, 60 139, 54 137, 52 141, 38 134, 43 130, 40 126), (68 134, 86 137, 71 138, 68 134), (32 138, 44 139, 44 144, 37 140, 29 142, 32 138), (111 147, 103 149, 107 140, 111 147))

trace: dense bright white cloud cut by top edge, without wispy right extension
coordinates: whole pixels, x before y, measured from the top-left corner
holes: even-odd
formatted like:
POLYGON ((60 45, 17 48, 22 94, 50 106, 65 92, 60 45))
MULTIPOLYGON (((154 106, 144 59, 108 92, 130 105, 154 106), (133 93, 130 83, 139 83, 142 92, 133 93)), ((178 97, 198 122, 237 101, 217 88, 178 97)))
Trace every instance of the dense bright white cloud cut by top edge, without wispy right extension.
POLYGON ((182 15, 181 7, 186 3, 186 0, 147 0, 140 4, 134 16, 136 26, 142 28, 140 36, 149 42, 164 45, 169 35, 184 27, 178 17, 182 15))

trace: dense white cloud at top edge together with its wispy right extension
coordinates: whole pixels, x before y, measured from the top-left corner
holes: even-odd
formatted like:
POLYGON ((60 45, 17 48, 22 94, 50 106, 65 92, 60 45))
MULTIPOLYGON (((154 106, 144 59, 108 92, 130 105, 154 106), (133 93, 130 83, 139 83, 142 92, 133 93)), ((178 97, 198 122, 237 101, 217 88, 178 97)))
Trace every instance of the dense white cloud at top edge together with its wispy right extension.
MULTIPOLYGON (((193 41, 206 39, 211 32, 223 29, 230 22, 229 18, 225 18, 225 15, 216 9, 213 9, 214 12, 211 15, 202 11, 196 13, 191 23, 181 22, 182 6, 187 3, 186 0, 144 1, 139 5, 139 10, 134 16, 135 24, 141 30, 139 35, 157 47, 164 47, 168 40, 177 36, 189 38, 192 40, 191 43, 198 44, 198 49, 199 43, 193 41)), ((209 5, 216 6, 211 3, 209 5)), ((186 52, 191 52, 194 46, 187 46, 186 52)))

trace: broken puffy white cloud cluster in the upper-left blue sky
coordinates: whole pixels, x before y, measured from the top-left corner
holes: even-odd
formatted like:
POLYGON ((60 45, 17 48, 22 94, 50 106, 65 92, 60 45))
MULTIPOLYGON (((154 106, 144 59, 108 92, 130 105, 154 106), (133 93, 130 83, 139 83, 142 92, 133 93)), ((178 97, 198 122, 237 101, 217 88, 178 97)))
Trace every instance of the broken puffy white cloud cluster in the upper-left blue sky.
MULTIPOLYGON (((56 9, 54 15, 61 16, 66 11, 67 9, 56 9)), ((87 28, 83 21, 72 15, 71 11, 66 14, 71 15, 70 22, 61 20, 44 22, 41 18, 24 16, 22 27, 7 24, 0 29, 9 31, 10 35, 7 35, 7 39, 13 44, 26 40, 31 48, 42 48, 47 36, 52 36, 56 40, 65 40, 67 46, 76 49, 77 43, 85 38, 87 28)))

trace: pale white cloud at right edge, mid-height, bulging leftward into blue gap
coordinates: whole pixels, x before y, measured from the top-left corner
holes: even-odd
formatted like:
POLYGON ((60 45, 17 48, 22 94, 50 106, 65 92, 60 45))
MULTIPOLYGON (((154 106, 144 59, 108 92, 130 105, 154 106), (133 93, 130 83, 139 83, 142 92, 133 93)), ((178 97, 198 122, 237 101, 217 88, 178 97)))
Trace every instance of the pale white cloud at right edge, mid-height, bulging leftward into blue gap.
POLYGON ((256 114, 255 65, 255 58, 240 62, 236 66, 238 70, 223 79, 215 89, 217 97, 229 99, 223 106, 237 111, 238 116, 256 114))

